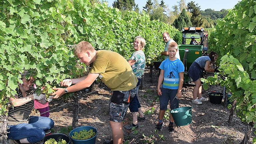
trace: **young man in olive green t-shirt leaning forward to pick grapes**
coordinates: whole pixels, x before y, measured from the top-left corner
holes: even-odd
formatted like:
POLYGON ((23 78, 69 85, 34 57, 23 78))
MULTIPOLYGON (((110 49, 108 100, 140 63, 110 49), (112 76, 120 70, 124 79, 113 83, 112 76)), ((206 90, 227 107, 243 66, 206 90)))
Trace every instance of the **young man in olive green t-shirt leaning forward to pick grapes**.
POLYGON ((120 54, 107 50, 96 51, 86 41, 81 41, 77 44, 74 54, 85 65, 92 64, 89 74, 81 78, 63 80, 60 85, 67 88, 56 88, 55 90, 57 91, 52 95, 55 95, 54 98, 58 98, 65 93, 82 90, 89 87, 99 77, 112 91, 109 122, 112 128, 113 142, 106 141, 105 143, 122 144, 122 120, 128 109, 129 102, 136 94, 136 84, 138 82, 131 66, 120 54))

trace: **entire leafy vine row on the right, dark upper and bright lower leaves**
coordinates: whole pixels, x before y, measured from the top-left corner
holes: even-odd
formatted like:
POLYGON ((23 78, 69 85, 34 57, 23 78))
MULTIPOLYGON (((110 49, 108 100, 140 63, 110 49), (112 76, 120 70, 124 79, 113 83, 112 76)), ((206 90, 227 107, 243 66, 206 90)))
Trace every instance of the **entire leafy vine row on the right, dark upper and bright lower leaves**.
MULTIPOLYGON (((210 32, 209 48, 219 53, 220 75, 207 83, 225 85, 236 100, 238 117, 256 121, 256 3, 242 0, 210 32)), ((254 138, 255 139, 255 138, 254 138)))

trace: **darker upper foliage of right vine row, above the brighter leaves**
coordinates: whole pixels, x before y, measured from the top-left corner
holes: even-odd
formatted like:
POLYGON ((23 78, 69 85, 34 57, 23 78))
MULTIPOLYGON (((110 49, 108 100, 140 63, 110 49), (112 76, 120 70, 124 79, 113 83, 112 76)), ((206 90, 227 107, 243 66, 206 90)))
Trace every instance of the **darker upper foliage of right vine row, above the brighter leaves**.
POLYGON ((220 56, 236 57, 252 79, 256 79, 256 3, 243 0, 211 32, 209 48, 220 56))

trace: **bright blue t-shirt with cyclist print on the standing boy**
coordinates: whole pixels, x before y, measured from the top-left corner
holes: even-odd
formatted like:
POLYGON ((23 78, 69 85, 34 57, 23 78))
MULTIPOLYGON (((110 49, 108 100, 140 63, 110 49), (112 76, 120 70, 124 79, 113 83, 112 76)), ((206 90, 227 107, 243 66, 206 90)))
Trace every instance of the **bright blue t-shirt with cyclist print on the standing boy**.
POLYGON ((163 88, 178 89, 180 80, 179 73, 185 70, 183 63, 179 59, 174 61, 166 59, 161 63, 159 68, 164 70, 163 88))

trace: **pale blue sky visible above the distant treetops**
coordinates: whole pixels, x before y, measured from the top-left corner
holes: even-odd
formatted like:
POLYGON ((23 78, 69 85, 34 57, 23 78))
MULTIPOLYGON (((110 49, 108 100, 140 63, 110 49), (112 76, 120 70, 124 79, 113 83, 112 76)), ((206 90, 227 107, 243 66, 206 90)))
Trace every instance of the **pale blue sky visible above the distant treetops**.
MULTIPOLYGON (((108 5, 112 6, 114 0, 106 0, 108 1, 108 5)), ((151 0, 152 2, 154 0, 151 0)), ((158 0, 160 3, 161 0, 158 0)), ((164 0, 165 5, 168 5, 169 9, 172 10, 173 5, 178 5, 179 0, 164 0)), ((205 10, 208 8, 214 9, 215 11, 220 11, 221 9, 232 9, 239 0, 186 0, 186 3, 194 1, 201 6, 201 10, 205 10)), ((241 1, 241 0, 240 0, 241 1)), ((142 10, 146 5, 147 0, 135 0, 135 3, 139 5, 140 10, 142 10)))

